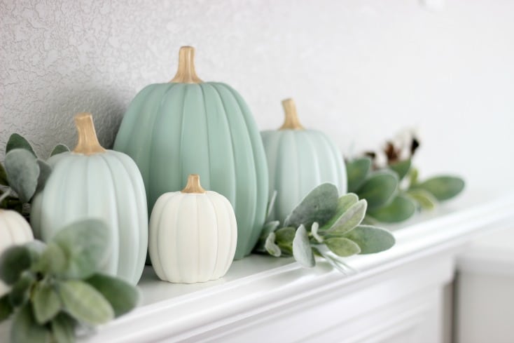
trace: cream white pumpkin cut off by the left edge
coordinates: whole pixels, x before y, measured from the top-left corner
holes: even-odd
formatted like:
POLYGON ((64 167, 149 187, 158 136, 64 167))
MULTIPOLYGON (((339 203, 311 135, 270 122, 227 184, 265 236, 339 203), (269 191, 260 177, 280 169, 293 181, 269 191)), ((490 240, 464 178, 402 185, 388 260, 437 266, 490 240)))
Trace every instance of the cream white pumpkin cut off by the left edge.
MULTIPOLYGON (((32 241, 32 229, 18 212, 0 209, 0 255, 10 246, 32 241)), ((8 292, 8 286, 0 280, 0 297, 8 292)))

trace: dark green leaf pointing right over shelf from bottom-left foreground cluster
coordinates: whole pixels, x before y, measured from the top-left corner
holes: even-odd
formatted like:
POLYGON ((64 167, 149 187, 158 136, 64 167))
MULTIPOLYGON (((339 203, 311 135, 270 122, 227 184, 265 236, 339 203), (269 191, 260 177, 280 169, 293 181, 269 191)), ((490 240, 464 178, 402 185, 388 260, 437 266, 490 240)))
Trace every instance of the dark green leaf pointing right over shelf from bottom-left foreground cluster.
POLYGON ((116 317, 132 311, 139 302, 139 292, 136 287, 113 276, 95 274, 85 282, 102 293, 105 299, 111 304, 116 317))

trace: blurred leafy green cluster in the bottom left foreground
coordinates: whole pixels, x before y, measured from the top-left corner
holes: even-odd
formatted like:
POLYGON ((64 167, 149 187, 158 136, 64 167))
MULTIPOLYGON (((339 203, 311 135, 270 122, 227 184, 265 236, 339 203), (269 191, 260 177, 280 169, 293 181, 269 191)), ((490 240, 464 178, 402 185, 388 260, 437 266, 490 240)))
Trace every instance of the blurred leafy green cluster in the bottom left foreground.
POLYGON ((0 321, 13 316, 13 343, 75 341, 86 328, 132 310, 137 288, 97 273, 109 257, 109 230, 99 220, 70 224, 48 245, 32 241, 0 256, 0 278, 11 291, 0 297, 0 321))

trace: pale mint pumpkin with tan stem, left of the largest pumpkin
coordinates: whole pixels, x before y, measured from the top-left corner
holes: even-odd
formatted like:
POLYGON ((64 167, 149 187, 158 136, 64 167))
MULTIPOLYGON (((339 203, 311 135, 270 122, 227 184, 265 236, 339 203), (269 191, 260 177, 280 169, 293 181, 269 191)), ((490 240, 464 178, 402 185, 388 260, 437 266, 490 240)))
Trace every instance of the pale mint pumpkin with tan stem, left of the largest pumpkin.
POLYGON ((67 224, 85 218, 104 220, 111 234, 111 254, 102 271, 136 284, 148 248, 148 210, 136 163, 97 140, 91 114, 75 117, 78 144, 48 160, 52 173, 34 196, 34 233, 49 241, 67 224))

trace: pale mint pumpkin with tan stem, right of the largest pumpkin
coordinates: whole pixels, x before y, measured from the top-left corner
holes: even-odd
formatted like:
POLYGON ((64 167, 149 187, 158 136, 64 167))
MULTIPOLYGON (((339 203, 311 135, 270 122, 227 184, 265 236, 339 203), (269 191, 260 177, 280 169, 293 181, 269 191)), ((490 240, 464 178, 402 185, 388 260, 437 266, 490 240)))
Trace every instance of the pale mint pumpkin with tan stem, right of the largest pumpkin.
POLYGON ((345 163, 324 133, 300 125, 293 100, 282 102, 286 121, 279 130, 261 133, 270 172, 270 192, 277 191, 270 219, 284 222, 314 187, 330 182, 347 191, 345 163))

